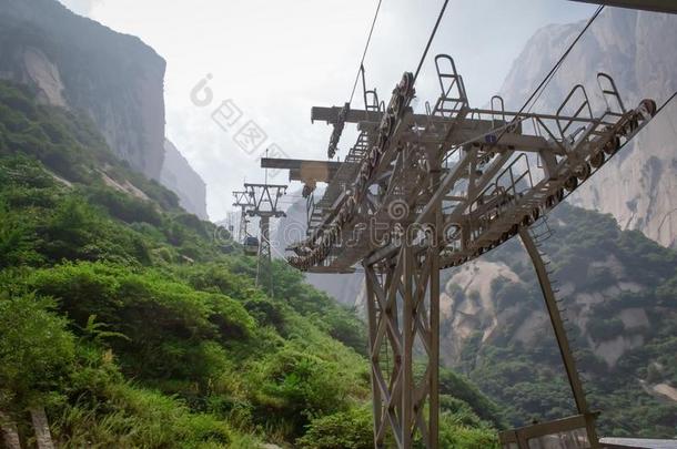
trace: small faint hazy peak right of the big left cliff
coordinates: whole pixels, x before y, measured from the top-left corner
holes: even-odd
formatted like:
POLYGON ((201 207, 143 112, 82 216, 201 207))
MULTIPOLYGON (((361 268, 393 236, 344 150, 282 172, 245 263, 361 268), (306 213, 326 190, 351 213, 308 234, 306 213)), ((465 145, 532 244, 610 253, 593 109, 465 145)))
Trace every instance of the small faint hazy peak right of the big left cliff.
POLYGON ((206 184, 169 140, 164 141, 164 151, 160 182, 179 195, 181 207, 202 220, 209 220, 206 184))

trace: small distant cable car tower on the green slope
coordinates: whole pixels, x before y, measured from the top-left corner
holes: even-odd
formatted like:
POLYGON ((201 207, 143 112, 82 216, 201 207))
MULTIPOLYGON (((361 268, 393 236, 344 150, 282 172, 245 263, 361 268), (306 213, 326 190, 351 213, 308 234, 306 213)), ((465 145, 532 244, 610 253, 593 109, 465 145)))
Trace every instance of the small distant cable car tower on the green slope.
MULTIPOLYGON (((266 176, 267 178, 267 176, 266 176)), ((273 295, 272 252, 270 241, 271 218, 280 218, 286 214, 280 210, 279 201, 286 193, 286 185, 279 184, 244 184, 244 193, 249 202, 245 214, 259 217, 259 248, 256 262, 256 285, 265 285, 269 295, 273 295)), ((245 246, 250 244, 246 238, 245 246)))

